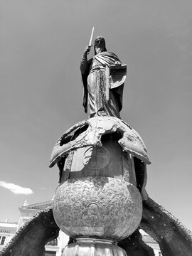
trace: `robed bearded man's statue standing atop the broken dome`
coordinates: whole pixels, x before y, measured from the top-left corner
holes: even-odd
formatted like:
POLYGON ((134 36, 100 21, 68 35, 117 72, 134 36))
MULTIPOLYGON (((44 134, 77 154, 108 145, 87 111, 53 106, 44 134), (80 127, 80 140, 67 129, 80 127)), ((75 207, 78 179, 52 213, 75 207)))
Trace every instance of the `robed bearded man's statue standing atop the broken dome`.
POLYGON ((87 46, 80 63, 85 112, 88 117, 108 115, 120 118, 126 65, 122 65, 117 55, 107 51, 102 36, 95 39, 94 50, 93 58, 87 60, 90 52, 90 46, 87 46))

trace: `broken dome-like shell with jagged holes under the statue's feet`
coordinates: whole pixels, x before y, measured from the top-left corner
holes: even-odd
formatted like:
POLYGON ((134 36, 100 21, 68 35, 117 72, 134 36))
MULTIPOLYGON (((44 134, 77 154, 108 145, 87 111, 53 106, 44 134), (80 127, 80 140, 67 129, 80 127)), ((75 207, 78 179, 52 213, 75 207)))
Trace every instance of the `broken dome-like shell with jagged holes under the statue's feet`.
POLYGON ((119 132, 122 135, 119 144, 124 151, 141 159, 145 164, 151 164, 146 154, 144 142, 128 124, 117 117, 92 117, 75 124, 58 139, 50 157, 50 167, 54 166, 61 157, 70 151, 84 146, 102 146, 102 135, 114 132, 119 132), (83 129, 85 126, 87 129, 83 129), (79 129, 77 137, 70 136, 70 133, 76 132, 78 128, 82 129, 82 132, 79 129))

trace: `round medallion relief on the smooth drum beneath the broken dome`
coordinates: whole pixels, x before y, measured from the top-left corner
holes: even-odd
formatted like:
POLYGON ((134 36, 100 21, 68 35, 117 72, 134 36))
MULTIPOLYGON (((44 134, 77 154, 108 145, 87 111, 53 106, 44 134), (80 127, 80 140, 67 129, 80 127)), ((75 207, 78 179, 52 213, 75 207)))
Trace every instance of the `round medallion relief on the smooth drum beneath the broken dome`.
POLYGON ((90 169, 102 169, 110 163, 110 152, 104 146, 90 146, 83 155, 83 164, 90 169))

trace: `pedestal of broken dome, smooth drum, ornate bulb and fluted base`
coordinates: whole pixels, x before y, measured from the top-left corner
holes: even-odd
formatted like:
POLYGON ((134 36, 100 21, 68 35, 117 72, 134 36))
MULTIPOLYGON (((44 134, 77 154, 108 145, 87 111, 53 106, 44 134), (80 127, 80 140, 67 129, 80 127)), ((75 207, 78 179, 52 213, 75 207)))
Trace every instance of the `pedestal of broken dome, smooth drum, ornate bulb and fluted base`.
POLYGON ((141 222, 146 177, 139 186, 136 176, 148 162, 139 134, 116 117, 86 119, 58 139, 50 164, 60 170, 53 216, 76 241, 63 256, 127 256, 116 243, 141 222))

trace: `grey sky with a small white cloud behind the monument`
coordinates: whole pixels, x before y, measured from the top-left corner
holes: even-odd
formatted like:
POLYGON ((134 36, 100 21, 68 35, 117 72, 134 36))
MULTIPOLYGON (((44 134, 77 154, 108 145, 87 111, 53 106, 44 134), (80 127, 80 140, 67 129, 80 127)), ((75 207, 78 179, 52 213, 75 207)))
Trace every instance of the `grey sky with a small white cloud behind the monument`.
POLYGON ((87 118, 79 66, 95 26, 127 64, 121 117, 146 144, 146 191, 192 230, 191 13, 191 0, 0 1, 0 221, 53 198, 53 146, 87 118))

